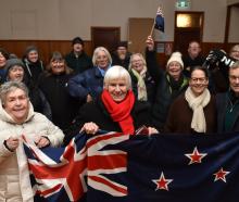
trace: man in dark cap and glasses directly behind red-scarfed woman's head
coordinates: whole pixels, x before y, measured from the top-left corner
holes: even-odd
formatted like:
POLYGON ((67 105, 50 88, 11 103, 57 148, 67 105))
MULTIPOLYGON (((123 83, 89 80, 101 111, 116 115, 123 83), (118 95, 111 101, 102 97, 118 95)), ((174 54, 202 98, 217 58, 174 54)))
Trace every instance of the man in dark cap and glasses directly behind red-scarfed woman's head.
POLYGON ((120 42, 112 54, 112 66, 121 65, 128 70, 131 53, 127 50, 127 42, 120 42))

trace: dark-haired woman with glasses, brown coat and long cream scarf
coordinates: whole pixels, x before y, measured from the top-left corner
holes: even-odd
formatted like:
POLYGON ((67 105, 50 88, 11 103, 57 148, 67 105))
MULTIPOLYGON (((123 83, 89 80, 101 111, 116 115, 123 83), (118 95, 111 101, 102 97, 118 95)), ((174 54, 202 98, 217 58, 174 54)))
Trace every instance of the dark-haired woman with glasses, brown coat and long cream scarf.
POLYGON ((207 85, 207 68, 192 67, 189 87, 169 109, 165 124, 166 132, 205 134, 216 131, 216 103, 207 85))

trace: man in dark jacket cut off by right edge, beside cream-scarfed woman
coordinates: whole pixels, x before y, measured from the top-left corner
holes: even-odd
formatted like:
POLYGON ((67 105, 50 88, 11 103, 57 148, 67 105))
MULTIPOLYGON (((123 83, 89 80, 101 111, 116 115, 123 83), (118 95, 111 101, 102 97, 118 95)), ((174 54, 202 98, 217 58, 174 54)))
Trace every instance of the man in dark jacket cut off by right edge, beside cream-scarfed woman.
POLYGON ((216 96, 217 131, 239 131, 239 61, 229 68, 229 90, 216 96))

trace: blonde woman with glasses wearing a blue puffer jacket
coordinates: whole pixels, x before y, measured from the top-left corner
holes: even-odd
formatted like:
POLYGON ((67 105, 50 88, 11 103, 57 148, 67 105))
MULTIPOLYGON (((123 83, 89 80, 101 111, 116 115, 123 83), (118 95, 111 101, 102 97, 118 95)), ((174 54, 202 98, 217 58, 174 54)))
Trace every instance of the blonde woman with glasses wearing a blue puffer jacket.
POLYGON ((98 47, 92 56, 93 68, 77 74, 68 80, 67 89, 72 97, 81 101, 95 100, 103 89, 103 77, 111 67, 112 58, 104 47, 98 47))

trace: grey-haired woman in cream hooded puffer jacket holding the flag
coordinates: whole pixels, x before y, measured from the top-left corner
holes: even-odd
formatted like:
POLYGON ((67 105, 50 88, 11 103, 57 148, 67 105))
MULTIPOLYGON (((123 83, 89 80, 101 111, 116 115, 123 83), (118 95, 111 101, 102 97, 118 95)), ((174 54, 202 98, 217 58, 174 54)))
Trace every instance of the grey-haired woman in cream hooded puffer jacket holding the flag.
POLYGON ((0 201, 34 201, 22 135, 38 148, 61 146, 63 132, 46 116, 34 112, 23 83, 0 88, 0 201))

